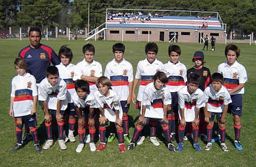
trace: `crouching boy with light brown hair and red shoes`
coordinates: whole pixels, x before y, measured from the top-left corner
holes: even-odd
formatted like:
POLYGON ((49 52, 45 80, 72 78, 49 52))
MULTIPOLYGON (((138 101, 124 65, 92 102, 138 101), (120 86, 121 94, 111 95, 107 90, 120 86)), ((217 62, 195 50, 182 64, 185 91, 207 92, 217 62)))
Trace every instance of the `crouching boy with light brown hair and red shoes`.
POLYGON ((97 147, 97 151, 102 151, 106 148, 106 126, 108 121, 114 122, 116 126, 116 132, 118 136, 118 147, 120 152, 125 152, 126 147, 123 143, 123 127, 122 117, 123 110, 118 95, 111 89, 111 82, 108 77, 100 76, 96 82, 98 91, 94 93, 97 103, 100 106, 100 118, 99 118, 99 134, 100 144, 97 147))

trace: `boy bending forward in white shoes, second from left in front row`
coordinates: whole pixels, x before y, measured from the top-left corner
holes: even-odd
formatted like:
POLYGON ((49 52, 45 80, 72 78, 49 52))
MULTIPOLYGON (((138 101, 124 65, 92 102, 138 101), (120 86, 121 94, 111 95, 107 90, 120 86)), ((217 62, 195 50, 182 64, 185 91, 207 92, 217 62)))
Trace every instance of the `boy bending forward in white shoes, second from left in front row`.
POLYGON ((64 141, 64 112, 67 109, 67 84, 59 77, 58 69, 55 66, 49 66, 46 69, 46 77, 38 87, 38 100, 42 102, 44 109, 45 128, 47 141, 43 146, 44 150, 53 145, 52 122, 56 118, 58 126, 58 144, 61 150, 66 150, 64 141))

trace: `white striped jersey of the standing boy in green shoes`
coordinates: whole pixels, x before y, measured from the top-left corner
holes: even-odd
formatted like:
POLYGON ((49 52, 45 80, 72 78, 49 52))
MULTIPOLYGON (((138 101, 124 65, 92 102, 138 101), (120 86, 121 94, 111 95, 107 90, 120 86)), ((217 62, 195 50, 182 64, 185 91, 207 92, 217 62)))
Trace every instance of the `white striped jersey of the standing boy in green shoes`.
POLYGON ((129 82, 133 81, 133 65, 125 59, 119 64, 113 59, 106 64, 104 75, 111 81, 112 89, 118 94, 120 100, 127 100, 129 82))

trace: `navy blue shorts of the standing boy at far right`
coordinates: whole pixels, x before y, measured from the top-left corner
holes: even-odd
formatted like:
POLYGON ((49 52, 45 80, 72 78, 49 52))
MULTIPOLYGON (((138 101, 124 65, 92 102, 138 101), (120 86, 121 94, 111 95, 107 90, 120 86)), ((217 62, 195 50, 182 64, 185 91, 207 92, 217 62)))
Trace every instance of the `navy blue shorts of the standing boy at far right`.
POLYGON ((243 97, 242 94, 231 95, 232 103, 229 104, 228 113, 242 116, 243 97))

